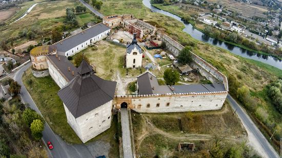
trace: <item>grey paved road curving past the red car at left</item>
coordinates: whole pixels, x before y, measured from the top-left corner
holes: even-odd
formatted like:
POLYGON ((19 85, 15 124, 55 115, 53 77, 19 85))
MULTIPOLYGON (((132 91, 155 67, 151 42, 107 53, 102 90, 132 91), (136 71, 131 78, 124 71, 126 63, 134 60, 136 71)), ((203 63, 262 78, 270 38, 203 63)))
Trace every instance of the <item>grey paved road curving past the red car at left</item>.
MULTIPOLYGON (((24 71, 26 71, 31 66, 31 63, 23 66, 19 69, 15 76, 14 80, 22 85, 21 89, 21 98, 24 103, 28 103, 29 107, 34 109, 38 114, 41 114, 31 96, 27 92, 26 87, 23 84, 22 76, 24 71)), ((99 155, 108 156, 108 152, 110 149, 110 144, 102 141, 91 142, 87 144, 77 144, 77 145, 68 145, 65 141, 61 139, 57 134, 55 134, 50 126, 46 123, 43 131, 43 141, 47 143, 51 141, 54 149, 48 150, 49 157, 96 157, 99 155)))

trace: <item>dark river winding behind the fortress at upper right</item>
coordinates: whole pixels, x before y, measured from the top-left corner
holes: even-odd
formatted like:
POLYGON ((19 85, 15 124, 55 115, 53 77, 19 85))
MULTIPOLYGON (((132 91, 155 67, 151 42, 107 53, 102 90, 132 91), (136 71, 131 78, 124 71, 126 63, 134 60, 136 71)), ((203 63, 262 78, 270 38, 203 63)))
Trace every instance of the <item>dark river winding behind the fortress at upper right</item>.
POLYGON ((169 12, 157 9, 156 7, 152 6, 151 3, 150 3, 150 0, 143 0, 143 4, 147 8, 151 9, 152 12, 164 14, 164 15, 167 15, 169 17, 176 19, 177 21, 182 22, 185 26, 185 29, 183 29, 183 31, 188 33, 189 35, 191 35, 193 38, 195 38, 197 40, 210 43, 214 46, 217 46, 219 48, 223 48, 225 50, 230 51, 233 54, 239 55, 239 56, 244 57, 244 58, 253 59, 253 60, 256 60, 256 61, 261 61, 261 62, 267 63, 269 65, 275 66, 278 69, 282 70, 282 62, 279 59, 277 59, 276 57, 272 57, 272 56, 268 56, 268 55, 262 55, 262 54, 259 54, 259 53, 248 51, 248 50, 245 50, 243 48, 236 47, 236 46, 229 44, 227 42, 223 42, 223 41, 211 38, 211 37, 205 35, 203 32, 200 32, 199 30, 195 29, 191 24, 183 21, 179 16, 176 16, 176 15, 171 14, 169 12))

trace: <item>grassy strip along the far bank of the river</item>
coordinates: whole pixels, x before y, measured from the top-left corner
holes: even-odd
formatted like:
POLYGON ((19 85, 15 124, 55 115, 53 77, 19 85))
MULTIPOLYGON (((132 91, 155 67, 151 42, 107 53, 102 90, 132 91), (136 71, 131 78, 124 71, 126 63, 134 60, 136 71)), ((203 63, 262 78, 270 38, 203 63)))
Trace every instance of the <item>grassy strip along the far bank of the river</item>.
MULTIPOLYGON (((163 4, 152 4, 152 5, 153 5, 154 7, 156 7, 156 8, 158 8, 158 9, 162 9, 162 10, 164 10, 164 11, 167 11, 167 12, 170 12, 170 13, 172 13, 172 14, 175 14, 175 15, 177 15, 177 16, 183 18, 183 19, 184 19, 185 17, 187 17, 187 16, 193 15, 193 14, 191 14, 189 11, 184 11, 183 9, 180 9, 179 6, 176 6, 176 5, 168 5, 168 6, 164 6, 163 4)), ((200 21, 197 21, 197 20, 193 20, 193 19, 189 20, 188 22, 189 22, 194 28, 196 28, 197 30, 199 30, 199 31, 201 31, 201 32, 203 32, 203 33, 204 33, 205 27, 208 26, 208 25, 206 25, 206 24, 203 24, 203 22, 200 22, 200 21)), ((217 29, 214 29, 214 30, 217 30, 217 29)), ((216 38, 216 37, 213 36, 212 34, 210 34, 209 36, 212 37, 212 38, 216 38)), ((266 53, 266 52, 263 52, 263 51, 254 50, 254 49, 251 49, 251 48, 249 48, 249 47, 244 46, 243 44, 238 44, 238 43, 235 43, 235 42, 227 41, 227 40, 222 39, 222 38, 220 38, 220 39, 219 39, 219 38, 216 38, 216 39, 218 39, 218 40, 220 40, 220 41, 227 42, 227 43, 232 44, 232 45, 234 45, 234 46, 236 46, 236 47, 243 48, 243 49, 248 50, 248 51, 251 51, 251 52, 259 53, 259 54, 262 54, 262 55, 274 56, 274 57, 276 57, 276 58, 278 58, 278 59, 280 59, 280 60, 282 59, 282 57, 279 57, 279 56, 277 56, 277 55, 275 55, 275 54, 269 54, 269 53, 266 53)))

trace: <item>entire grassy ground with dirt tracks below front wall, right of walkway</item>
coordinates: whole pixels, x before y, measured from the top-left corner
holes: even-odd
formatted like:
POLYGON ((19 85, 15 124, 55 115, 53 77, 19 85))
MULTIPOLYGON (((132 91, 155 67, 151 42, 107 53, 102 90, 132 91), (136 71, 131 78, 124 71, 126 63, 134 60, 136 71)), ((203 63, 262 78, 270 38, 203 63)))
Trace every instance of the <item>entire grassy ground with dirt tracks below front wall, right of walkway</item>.
POLYGON ((207 150, 216 134, 235 143, 244 142, 246 131, 238 120, 232 116, 233 111, 227 104, 221 110, 175 112, 163 114, 134 114, 132 123, 137 155, 154 157, 166 149, 171 157, 199 156, 201 150, 207 150), (183 131, 180 131, 181 119, 183 131), (153 124, 150 125, 146 119, 153 124), (195 143, 195 152, 180 153, 176 150, 179 142, 195 143))

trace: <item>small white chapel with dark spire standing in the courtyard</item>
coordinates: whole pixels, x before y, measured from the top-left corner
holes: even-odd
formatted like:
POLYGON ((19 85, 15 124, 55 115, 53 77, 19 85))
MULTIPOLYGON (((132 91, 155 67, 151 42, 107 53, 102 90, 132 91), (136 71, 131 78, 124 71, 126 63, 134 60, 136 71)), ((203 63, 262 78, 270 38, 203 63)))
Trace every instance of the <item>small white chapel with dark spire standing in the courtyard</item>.
POLYGON ((136 33, 133 34, 133 40, 126 47, 126 68, 142 67, 142 49, 137 43, 136 33))

